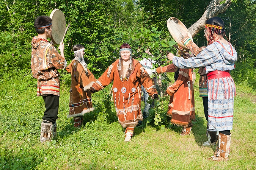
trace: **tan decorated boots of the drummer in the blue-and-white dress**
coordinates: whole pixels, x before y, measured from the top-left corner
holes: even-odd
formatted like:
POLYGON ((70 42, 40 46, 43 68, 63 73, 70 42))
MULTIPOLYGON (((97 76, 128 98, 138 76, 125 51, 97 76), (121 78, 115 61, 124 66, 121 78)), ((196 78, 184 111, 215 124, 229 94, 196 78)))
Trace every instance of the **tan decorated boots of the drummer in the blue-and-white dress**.
POLYGON ((231 142, 231 134, 218 134, 218 143, 216 147, 216 151, 214 156, 212 156, 212 160, 214 161, 222 161, 228 160, 229 152, 230 152, 230 142, 231 142))

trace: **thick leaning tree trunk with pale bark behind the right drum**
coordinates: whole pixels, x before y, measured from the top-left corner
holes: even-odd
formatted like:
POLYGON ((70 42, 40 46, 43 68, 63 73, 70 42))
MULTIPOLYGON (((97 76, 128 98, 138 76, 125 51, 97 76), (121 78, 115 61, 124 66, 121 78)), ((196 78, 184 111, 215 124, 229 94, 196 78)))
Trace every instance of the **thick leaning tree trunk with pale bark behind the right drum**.
POLYGON ((225 2, 221 4, 220 2, 223 2, 223 0, 212 0, 206 7, 203 16, 188 28, 192 37, 204 28, 206 20, 225 12, 231 5, 231 0, 225 0, 225 2))

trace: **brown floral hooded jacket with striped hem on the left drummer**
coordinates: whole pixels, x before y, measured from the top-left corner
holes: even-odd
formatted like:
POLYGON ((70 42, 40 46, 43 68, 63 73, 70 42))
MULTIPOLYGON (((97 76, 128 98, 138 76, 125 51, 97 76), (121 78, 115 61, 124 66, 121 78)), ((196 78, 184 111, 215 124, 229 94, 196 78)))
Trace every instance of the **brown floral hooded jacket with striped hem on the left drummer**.
POLYGON ((66 67, 66 60, 47 39, 33 37, 31 50, 31 70, 37 82, 37 96, 60 96, 60 73, 57 69, 66 67))

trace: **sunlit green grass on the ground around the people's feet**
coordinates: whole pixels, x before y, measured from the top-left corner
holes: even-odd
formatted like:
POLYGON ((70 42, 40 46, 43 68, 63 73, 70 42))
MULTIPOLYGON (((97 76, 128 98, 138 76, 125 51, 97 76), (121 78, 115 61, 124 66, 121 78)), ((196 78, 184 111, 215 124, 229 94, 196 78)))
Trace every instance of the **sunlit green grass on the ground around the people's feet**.
MULTIPOLYGON (((181 127, 166 128, 168 123, 160 123, 166 126, 161 128, 144 122, 135 128, 132 142, 128 143, 124 142, 124 129, 117 122, 113 104, 108 103, 110 97, 101 100, 110 87, 93 94, 95 111, 84 117, 81 128, 74 128, 73 120, 66 118, 69 84, 63 81, 58 137, 41 143, 44 101, 36 97, 36 80, 22 71, 6 73, 0 77, 0 170, 256 169, 254 87, 237 83, 231 154, 228 161, 214 162, 207 158, 213 155, 215 146, 202 146, 207 140, 207 122, 197 82, 194 86, 196 120, 190 136, 180 136, 181 127)), ((164 108, 159 110, 162 115, 167 110, 167 102, 163 101, 164 108)))

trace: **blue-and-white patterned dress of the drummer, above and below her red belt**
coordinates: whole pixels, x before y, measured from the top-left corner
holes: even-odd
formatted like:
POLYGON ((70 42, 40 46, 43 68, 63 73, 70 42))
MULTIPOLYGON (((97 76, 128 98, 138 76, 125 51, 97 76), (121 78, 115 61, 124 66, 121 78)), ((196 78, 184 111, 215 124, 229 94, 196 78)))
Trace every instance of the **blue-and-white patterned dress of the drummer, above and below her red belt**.
MULTIPOLYGON (((214 42, 196 57, 184 59, 174 56, 173 64, 179 68, 206 67, 206 73, 233 70, 237 52, 231 44, 214 42)), ((207 80, 209 129, 231 130, 233 125, 234 95, 236 87, 231 76, 207 80)))

